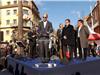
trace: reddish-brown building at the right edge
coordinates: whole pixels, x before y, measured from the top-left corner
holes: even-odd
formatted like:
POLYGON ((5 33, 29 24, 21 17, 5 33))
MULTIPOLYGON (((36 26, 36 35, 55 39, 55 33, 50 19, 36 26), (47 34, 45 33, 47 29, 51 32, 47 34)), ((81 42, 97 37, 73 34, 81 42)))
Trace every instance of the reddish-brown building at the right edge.
POLYGON ((90 27, 94 29, 95 32, 100 33, 100 2, 97 1, 95 7, 93 8, 87 18, 87 23, 90 27), (92 13, 92 16, 91 16, 92 13), (93 19, 93 26, 92 26, 92 20, 93 19))

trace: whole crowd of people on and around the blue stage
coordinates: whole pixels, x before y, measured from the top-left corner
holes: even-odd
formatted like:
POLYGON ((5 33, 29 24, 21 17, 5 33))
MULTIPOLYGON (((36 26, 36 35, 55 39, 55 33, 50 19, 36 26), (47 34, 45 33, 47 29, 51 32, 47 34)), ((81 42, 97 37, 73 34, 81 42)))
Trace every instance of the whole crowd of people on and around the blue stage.
MULTIPOLYGON (((59 25, 56 36, 51 35, 53 30, 52 23, 48 21, 48 14, 45 13, 37 29, 29 30, 27 39, 22 41, 24 55, 33 59, 40 57, 43 63, 49 62, 52 56, 65 63, 74 58, 86 60, 91 53, 96 57, 95 48, 97 45, 94 41, 89 43, 90 32, 82 19, 77 21, 77 28, 71 25, 70 19, 66 19, 65 25, 59 25)), ((9 54, 17 54, 18 43, 16 40, 11 40, 0 46, 0 58, 9 54)))

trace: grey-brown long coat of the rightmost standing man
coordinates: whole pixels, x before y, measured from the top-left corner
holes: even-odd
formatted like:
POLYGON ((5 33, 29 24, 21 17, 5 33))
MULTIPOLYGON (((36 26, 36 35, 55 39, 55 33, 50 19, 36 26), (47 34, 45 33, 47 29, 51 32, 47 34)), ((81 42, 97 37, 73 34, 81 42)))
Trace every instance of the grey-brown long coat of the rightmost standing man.
MULTIPOLYGON (((77 28, 77 34, 78 34, 78 28, 77 28)), ((81 48, 87 48, 88 47, 88 37, 89 37, 89 30, 86 26, 83 26, 80 29, 80 45, 81 48)), ((77 35, 78 37, 78 35, 77 35)))

